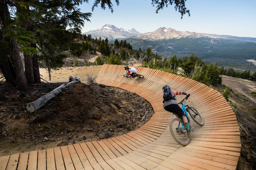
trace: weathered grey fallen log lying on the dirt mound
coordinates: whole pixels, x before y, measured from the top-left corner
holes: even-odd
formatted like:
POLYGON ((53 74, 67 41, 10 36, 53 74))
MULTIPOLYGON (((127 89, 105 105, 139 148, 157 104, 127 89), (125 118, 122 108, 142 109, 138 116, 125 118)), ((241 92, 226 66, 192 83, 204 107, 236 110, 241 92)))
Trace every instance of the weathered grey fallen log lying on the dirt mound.
POLYGON ((40 107, 44 106, 49 100, 54 98, 57 94, 59 94, 66 87, 70 86, 71 84, 80 82, 80 78, 79 77, 75 77, 73 79, 73 77, 70 76, 70 80, 72 80, 72 81, 69 81, 68 83, 63 83, 62 85, 60 85, 59 87, 55 88, 51 92, 45 94, 44 96, 39 97, 37 100, 35 100, 33 102, 28 103, 27 106, 26 106, 27 110, 30 113, 36 111, 40 107))

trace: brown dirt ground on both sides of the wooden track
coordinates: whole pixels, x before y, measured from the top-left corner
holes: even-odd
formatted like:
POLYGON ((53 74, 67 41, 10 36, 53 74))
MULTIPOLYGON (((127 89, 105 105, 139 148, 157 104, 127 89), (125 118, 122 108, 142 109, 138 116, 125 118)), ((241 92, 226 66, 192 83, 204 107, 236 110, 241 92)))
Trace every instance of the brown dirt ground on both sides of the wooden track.
MULTIPOLYGON (((52 70, 51 81, 48 71, 41 69, 45 81, 30 85, 26 91, 0 84, 7 97, 0 102, 0 156, 119 136, 141 127, 154 114, 150 103, 134 93, 87 85, 88 75, 98 75, 101 66, 67 66, 52 70), (81 82, 63 90, 38 111, 26 111, 28 102, 68 82, 69 76, 78 76, 81 82)), ((241 132, 237 169, 256 169, 256 106, 252 100, 256 97, 250 93, 255 91, 255 84, 233 81, 234 78, 223 77, 223 84, 234 90, 229 99, 241 132)))

